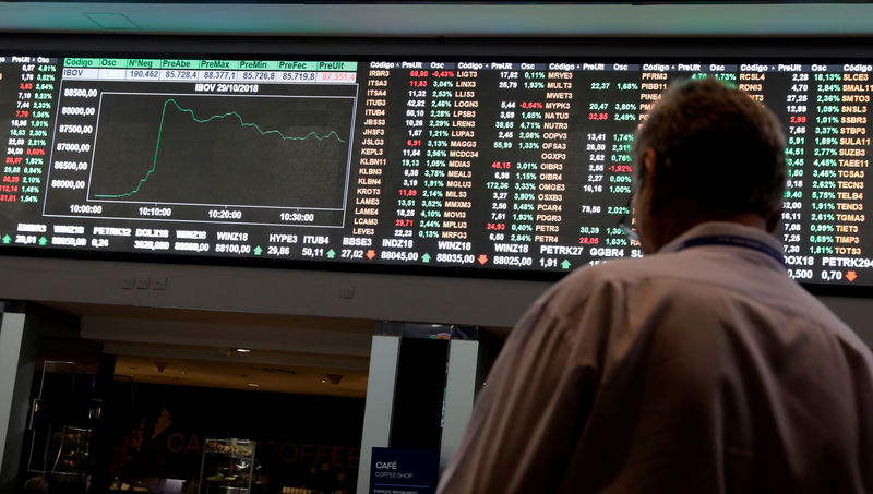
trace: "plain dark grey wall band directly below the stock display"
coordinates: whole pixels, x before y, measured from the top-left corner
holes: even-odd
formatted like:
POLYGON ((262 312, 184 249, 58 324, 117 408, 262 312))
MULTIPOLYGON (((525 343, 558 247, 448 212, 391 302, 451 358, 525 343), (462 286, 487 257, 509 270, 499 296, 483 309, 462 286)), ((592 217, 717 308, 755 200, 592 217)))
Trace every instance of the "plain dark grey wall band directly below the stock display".
MULTIPOLYGON (((253 267, 0 257, 0 299, 511 327, 551 284, 253 267), (166 278, 164 290, 122 288, 166 278), (351 297, 348 294, 351 293, 351 297)), ((820 297, 869 345, 873 301, 820 297)))

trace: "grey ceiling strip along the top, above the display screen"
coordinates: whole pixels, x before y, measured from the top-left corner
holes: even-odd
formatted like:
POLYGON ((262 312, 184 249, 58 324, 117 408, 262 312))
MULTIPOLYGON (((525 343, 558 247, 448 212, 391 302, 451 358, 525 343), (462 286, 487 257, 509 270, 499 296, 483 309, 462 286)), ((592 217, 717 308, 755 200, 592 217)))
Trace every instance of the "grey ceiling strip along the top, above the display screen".
POLYGON ((869 2, 0 2, 0 32, 279 36, 870 36, 869 2))

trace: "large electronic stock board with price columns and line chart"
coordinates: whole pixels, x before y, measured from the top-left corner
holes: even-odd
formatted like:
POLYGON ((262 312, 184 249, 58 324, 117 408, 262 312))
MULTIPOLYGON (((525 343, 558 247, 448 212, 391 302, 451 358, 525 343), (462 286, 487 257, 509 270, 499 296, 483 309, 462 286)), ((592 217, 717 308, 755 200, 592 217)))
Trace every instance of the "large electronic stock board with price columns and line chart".
POLYGON ((873 285, 871 73, 833 60, 0 57, 0 252, 522 276, 636 257, 620 227, 634 131, 669 84, 715 76, 785 128, 790 275, 873 285))

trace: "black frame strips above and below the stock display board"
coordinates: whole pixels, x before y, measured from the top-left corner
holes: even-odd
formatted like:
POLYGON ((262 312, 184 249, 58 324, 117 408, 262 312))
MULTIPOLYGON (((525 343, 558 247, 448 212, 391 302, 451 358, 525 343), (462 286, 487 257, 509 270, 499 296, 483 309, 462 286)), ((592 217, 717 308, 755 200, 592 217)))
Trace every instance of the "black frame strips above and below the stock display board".
MULTIPOLYGON (((727 62, 742 58, 755 62, 779 61, 803 63, 839 61, 872 62, 873 38, 866 37, 577 37, 577 38, 359 38, 359 37, 232 37, 232 36, 141 36, 141 35, 70 35, 70 34, 0 34, 4 55, 65 57, 143 57, 202 59, 299 59, 335 58, 361 60, 378 58, 395 61, 414 57, 428 61, 566 61, 632 62, 657 59, 659 62, 727 62), (63 47, 59 49, 59 47, 63 47), (748 53, 757 56, 750 60, 748 53), (839 53, 839 57, 835 57, 839 53), (490 60, 489 60, 490 61, 490 60)), ((567 273, 465 268, 449 266, 367 265, 323 261, 261 260, 184 254, 120 253, 35 250, 5 246, 0 255, 50 257, 134 263, 219 265, 306 269, 361 274, 439 276, 452 278, 511 279, 519 281, 557 281, 567 273)), ((801 285, 811 293, 835 297, 873 297, 873 286, 801 285)))

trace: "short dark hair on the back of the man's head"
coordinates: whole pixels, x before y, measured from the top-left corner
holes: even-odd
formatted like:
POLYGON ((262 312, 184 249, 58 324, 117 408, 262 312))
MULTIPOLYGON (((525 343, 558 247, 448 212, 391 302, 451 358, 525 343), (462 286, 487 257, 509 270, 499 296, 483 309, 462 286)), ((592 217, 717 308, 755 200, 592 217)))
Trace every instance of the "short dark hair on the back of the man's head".
MULTIPOLYGON (((654 184, 665 201, 715 217, 770 215, 781 207, 787 178, 785 137, 776 117, 715 79, 668 89, 637 132, 634 162, 654 150, 654 184)), ((646 167, 636 167, 645 182, 646 167)))

